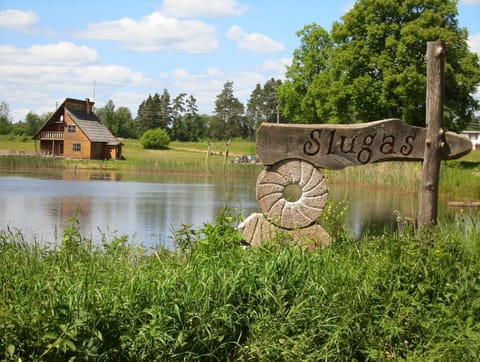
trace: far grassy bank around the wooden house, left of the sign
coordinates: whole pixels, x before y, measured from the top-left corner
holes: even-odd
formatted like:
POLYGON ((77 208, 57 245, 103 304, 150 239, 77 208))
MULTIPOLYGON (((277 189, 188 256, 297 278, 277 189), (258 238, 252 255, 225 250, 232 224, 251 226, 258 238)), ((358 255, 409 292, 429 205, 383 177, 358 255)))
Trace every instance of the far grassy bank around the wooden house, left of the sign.
MULTIPOLYGON (((101 160, 61 160, 50 157, 12 156, 11 150, 35 153, 35 143, 25 142, 11 136, 0 136, 0 151, 6 156, 0 156, 0 169, 29 168, 76 168, 102 170, 140 170, 165 173, 231 173, 237 175, 257 175, 261 165, 238 165, 230 161, 239 154, 252 153, 254 142, 232 141, 229 146, 229 156, 225 157, 225 143, 212 143, 210 155, 207 158, 208 142, 172 142, 165 150, 145 150, 138 140, 122 140, 123 161, 101 160)), ((253 152, 254 153, 254 152, 253 152)))

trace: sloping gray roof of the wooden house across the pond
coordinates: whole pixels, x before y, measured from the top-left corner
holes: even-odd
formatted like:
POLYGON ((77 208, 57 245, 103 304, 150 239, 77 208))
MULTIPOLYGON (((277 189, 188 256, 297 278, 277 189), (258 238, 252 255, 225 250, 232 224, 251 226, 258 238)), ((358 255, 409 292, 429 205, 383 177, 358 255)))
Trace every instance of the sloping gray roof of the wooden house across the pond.
POLYGON ((102 142, 109 145, 120 144, 95 113, 65 109, 91 142, 102 142))

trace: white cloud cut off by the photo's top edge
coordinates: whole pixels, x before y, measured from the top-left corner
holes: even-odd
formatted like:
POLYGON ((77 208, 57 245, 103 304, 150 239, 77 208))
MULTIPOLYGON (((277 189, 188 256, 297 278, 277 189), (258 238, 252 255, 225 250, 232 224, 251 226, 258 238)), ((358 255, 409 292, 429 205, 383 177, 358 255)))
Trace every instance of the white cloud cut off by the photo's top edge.
POLYGON ((216 18, 243 15, 247 6, 236 0, 164 0, 162 11, 170 16, 216 18))

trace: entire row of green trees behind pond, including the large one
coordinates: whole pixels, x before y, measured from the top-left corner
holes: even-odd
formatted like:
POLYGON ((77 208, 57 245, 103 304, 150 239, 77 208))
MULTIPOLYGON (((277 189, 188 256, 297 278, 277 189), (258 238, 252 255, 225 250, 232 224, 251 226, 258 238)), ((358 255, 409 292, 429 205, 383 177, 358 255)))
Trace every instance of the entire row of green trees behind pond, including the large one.
MULTIPOLYGON (((456 0, 357 0, 330 31, 313 23, 297 32, 300 45, 285 81, 257 84, 244 105, 224 84, 213 115, 198 113, 193 95, 149 95, 132 118, 109 101, 96 110, 118 137, 163 129, 172 140, 254 140, 262 122, 358 123, 400 118, 425 126, 426 44, 447 43, 444 128, 461 131, 479 123, 478 54, 458 25, 456 0)), ((0 107, 0 133, 32 134, 47 119, 29 113, 12 125, 0 107), (38 127, 37 127, 38 128, 38 127)))

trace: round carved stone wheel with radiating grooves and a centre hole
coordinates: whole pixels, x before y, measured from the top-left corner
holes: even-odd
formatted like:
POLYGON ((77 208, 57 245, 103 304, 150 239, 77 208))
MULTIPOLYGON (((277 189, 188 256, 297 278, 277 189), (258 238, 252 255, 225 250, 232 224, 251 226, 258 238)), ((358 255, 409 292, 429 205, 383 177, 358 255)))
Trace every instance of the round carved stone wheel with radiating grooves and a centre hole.
POLYGON ((284 160, 263 170, 257 179, 257 201, 263 215, 271 223, 285 228, 303 228, 313 224, 328 199, 327 181, 311 163, 284 160), (285 187, 297 184, 302 195, 288 201, 285 187))

